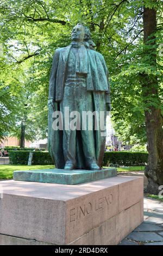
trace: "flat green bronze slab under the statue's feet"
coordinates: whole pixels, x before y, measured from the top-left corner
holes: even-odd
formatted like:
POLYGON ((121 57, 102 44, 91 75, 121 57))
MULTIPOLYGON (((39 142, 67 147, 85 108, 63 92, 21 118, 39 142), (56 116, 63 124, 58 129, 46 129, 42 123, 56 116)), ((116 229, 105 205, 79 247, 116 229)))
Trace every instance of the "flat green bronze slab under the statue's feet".
POLYGON ((14 180, 75 185, 117 176, 116 168, 101 170, 15 170, 14 180))

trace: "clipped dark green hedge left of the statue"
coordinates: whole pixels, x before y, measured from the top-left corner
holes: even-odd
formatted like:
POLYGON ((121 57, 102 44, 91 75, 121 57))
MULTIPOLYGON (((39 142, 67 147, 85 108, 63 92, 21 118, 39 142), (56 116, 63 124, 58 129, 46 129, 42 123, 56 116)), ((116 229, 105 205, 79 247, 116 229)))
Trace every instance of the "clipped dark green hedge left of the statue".
MULTIPOLYGON (((33 152, 32 164, 54 164, 51 156, 47 151, 31 151, 33 152)), ((15 150, 9 151, 9 160, 11 164, 28 164, 29 151, 15 150)))

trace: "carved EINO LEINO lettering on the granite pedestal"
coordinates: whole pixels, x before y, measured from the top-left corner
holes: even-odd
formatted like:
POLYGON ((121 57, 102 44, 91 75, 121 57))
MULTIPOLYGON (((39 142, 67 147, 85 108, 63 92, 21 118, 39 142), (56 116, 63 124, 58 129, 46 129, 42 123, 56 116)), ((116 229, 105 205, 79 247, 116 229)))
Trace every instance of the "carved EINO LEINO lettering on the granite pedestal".
POLYGON ((90 215, 93 211, 99 211, 109 207, 113 202, 112 193, 108 196, 99 197, 83 205, 77 205, 75 208, 70 209, 70 222, 77 221, 90 215))

